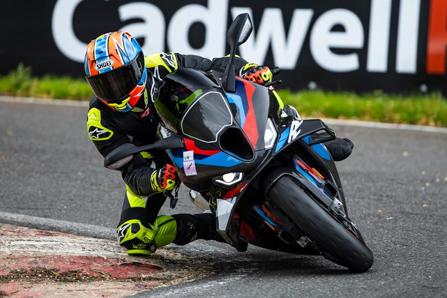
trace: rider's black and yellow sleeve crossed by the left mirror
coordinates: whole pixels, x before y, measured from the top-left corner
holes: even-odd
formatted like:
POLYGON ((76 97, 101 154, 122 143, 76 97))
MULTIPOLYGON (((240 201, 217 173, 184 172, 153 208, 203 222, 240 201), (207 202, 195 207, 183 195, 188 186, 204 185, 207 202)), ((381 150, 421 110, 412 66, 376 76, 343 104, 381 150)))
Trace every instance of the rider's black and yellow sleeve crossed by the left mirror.
MULTIPOLYGON (((120 145, 131 143, 129 137, 114 125, 112 119, 101 113, 97 106, 90 106, 87 119, 90 140, 103 157, 120 145)), ((150 178, 155 169, 141 154, 135 154, 134 160, 121 170, 121 175, 129 189, 137 196, 148 197, 155 193, 150 178)))

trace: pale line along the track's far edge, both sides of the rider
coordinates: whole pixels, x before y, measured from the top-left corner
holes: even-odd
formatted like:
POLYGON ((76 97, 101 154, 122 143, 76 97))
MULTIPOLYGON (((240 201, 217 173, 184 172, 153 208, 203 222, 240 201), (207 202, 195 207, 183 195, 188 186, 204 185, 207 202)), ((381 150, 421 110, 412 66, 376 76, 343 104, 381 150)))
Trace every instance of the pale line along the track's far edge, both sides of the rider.
MULTIPOLYGON (((70 99, 14 97, 14 96, 0 96, 0 102, 50 104, 60 106, 72 106, 72 107, 88 107, 89 105, 89 101, 78 101, 70 99)), ((323 120, 328 125, 354 126, 354 127, 373 128, 373 129, 394 129, 394 130, 406 130, 406 131, 425 132, 425 133, 447 134, 447 128, 444 127, 369 122, 369 121, 345 120, 345 119, 329 119, 329 118, 321 118, 321 120, 323 120)))

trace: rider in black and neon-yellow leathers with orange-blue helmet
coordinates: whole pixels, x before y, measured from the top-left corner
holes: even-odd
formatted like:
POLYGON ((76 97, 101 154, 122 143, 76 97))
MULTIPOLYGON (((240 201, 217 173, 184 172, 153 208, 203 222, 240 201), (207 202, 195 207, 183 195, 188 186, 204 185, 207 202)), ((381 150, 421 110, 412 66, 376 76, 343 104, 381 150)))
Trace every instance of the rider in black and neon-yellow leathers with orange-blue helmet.
MULTIPOLYGON (((127 32, 110 32, 87 46, 84 71, 95 96, 90 101, 87 131, 102 156, 126 143, 137 146, 156 141, 158 116, 153 107, 161 79, 178 68, 204 72, 222 70, 227 57, 212 61, 195 55, 162 52, 144 56, 138 42, 127 32)), ((236 73, 256 83, 272 81, 268 67, 247 63, 236 57, 236 73)), ((285 112, 297 115, 292 107, 285 112)), ((332 142, 334 143, 334 142, 332 142)), ((339 139, 334 159, 346 158, 352 143, 339 139), (341 154, 341 155, 340 155, 341 154)), ((331 153, 333 145, 328 144, 331 153)), ((333 154, 333 155, 334 155, 333 154)), ((163 150, 137 154, 121 170, 126 193, 117 227, 117 240, 130 255, 149 256, 171 242, 184 245, 196 239, 222 240, 216 232, 215 217, 210 213, 158 216, 166 197, 177 183, 175 168, 163 150), (151 167, 152 162, 155 168, 151 167)))

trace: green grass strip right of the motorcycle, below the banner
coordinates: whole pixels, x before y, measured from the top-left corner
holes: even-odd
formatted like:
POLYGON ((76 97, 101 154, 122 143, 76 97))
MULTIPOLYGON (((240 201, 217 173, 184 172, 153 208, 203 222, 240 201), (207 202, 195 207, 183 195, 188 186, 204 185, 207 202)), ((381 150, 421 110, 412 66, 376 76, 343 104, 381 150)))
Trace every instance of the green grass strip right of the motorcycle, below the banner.
POLYGON ((447 100, 441 93, 388 95, 380 91, 351 92, 278 91, 285 104, 302 116, 357 119, 447 127, 447 100))

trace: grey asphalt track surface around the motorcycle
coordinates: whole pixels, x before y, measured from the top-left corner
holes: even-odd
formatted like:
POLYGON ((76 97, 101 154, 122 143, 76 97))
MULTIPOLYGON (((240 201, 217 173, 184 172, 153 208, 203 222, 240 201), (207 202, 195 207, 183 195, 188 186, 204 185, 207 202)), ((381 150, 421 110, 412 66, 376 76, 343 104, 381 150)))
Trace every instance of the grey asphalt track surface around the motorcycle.
MULTIPOLYGON (((88 139, 86 112, 0 102, 0 212, 112 234, 123 182, 88 139)), ((447 134, 332 128, 356 145, 338 168, 350 217, 374 253, 371 270, 352 274, 322 257, 254 246, 238 253, 200 240, 169 247, 209 260, 214 277, 138 297, 447 297, 447 134)), ((166 203, 161 214, 198 211, 182 189, 177 208, 166 203)))

